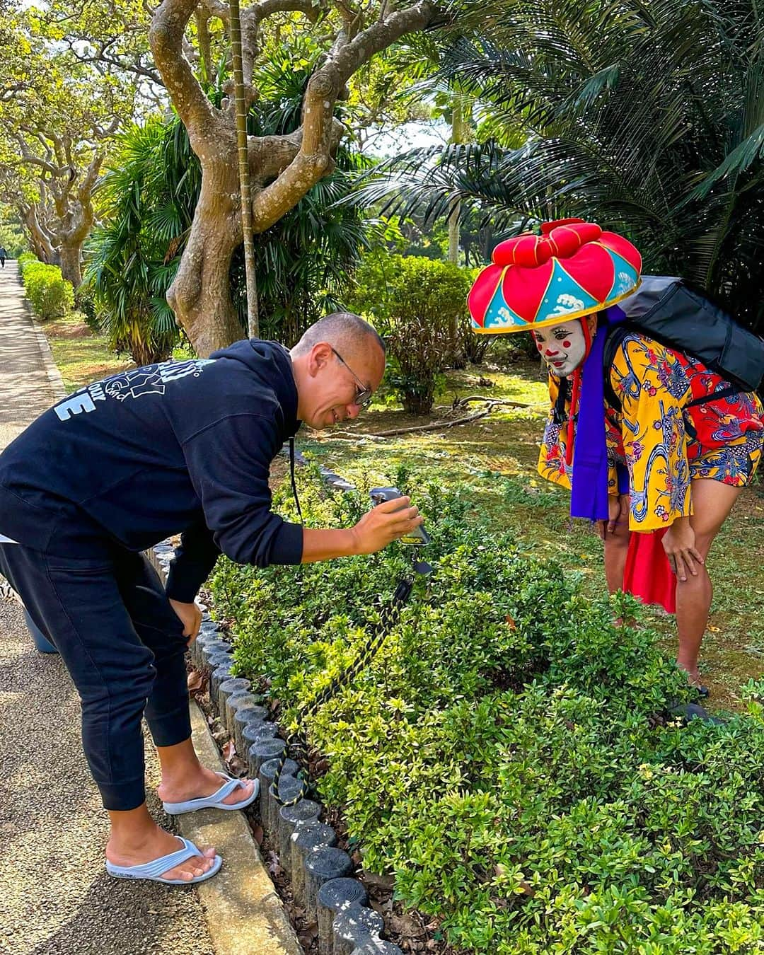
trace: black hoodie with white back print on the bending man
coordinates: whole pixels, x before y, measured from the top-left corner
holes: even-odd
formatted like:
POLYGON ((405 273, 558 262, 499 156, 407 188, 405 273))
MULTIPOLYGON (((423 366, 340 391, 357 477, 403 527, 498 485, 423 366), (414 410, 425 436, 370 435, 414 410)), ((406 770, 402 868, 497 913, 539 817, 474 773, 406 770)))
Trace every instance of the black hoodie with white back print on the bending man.
POLYGON ((0 534, 71 557, 183 533, 168 593, 192 600, 223 551, 299 563, 303 532, 270 511, 268 470, 300 427, 289 354, 237 342, 88 385, 0 455, 0 534))

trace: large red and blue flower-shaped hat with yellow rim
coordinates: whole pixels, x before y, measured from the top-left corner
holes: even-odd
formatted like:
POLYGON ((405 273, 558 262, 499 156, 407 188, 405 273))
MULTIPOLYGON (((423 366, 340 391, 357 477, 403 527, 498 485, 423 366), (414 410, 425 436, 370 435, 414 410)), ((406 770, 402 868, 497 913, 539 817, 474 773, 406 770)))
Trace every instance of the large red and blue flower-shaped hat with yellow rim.
POLYGON ((615 305, 640 284, 642 256, 583 219, 543 223, 499 243, 470 290, 477 333, 530 331, 615 305))

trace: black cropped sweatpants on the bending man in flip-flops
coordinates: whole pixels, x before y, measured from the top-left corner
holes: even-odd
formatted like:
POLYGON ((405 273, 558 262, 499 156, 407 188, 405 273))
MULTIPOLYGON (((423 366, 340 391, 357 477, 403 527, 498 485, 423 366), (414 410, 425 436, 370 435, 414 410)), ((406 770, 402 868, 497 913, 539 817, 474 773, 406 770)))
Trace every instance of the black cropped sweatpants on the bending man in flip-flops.
POLYGON ((72 675, 103 805, 135 809, 144 800, 143 714, 157 746, 191 736, 183 627, 157 572, 119 547, 93 559, 3 543, 0 573, 72 675))

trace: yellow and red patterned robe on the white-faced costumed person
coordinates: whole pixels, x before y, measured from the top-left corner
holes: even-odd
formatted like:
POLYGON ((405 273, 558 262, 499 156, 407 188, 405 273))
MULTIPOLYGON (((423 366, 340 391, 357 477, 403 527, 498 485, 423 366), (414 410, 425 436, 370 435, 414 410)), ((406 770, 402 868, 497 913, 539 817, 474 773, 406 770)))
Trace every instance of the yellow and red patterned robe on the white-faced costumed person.
MULTIPOLYGON (((608 490, 618 494, 620 471, 621 490, 631 499, 630 530, 656 530, 690 515, 692 479, 709 477, 734 487, 750 483, 764 444, 764 411, 755 394, 714 399, 729 382, 636 332, 626 335, 616 352, 610 384, 622 409, 605 398, 608 490)), ((559 390, 559 380, 550 375, 553 411, 559 390)), ((569 414, 568 397, 565 417, 569 414)), ((569 489, 566 444, 567 421, 556 423, 550 415, 539 473, 569 489)))

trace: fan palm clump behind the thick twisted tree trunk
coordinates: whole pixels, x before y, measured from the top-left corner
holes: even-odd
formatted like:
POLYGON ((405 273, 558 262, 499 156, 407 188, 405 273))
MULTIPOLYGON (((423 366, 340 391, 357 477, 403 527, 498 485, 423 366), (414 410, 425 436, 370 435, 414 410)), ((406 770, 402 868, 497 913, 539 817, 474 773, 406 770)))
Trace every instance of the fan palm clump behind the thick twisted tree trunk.
MULTIPOLYGON (((290 51, 293 55, 295 51, 290 51)), ((317 55, 306 49, 300 69, 272 53, 255 77, 261 95, 249 115, 253 136, 293 132, 300 124, 303 91, 317 55), (312 59, 311 59, 312 57, 312 59)), ((301 61, 302 62, 302 61, 301 61)), ((209 91, 223 97, 220 83, 209 91)), ((97 321, 113 347, 138 364, 156 361, 179 340, 166 294, 180 265, 202 185, 202 167, 178 117, 155 117, 120 138, 121 151, 103 177, 99 202, 104 223, 89 244, 86 283, 96 298, 97 321)), ((368 245, 360 212, 342 202, 351 170, 361 160, 346 149, 337 168, 295 208, 255 236, 260 333, 292 345, 342 297, 368 245)), ((244 251, 230 269, 231 294, 246 328, 244 251)))

